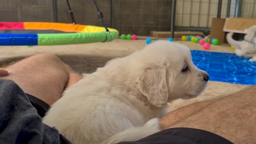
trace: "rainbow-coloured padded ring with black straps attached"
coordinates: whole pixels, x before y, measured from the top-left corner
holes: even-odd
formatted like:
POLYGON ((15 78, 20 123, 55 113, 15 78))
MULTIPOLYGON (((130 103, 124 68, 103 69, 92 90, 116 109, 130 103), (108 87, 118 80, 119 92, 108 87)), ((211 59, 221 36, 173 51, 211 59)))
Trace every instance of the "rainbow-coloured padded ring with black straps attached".
POLYGON ((0 45, 68 45, 112 41, 117 29, 55 22, 0 22, 0 45))

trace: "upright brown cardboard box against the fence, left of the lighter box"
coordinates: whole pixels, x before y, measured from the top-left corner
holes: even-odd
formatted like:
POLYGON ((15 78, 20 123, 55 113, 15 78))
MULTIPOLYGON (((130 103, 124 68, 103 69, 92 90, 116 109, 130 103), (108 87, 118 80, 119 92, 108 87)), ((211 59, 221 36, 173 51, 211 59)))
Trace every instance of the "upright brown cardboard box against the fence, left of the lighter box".
POLYGON ((226 43, 226 33, 223 32, 225 19, 213 18, 212 27, 210 31, 210 39, 216 38, 219 40, 219 44, 226 43))

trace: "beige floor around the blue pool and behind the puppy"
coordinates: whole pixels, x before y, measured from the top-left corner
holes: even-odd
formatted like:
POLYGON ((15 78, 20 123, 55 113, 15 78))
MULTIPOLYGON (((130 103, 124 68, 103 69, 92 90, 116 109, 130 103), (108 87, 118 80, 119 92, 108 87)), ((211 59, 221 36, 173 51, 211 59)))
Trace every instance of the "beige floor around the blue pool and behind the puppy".
MULTIPOLYGON (((191 50, 203 50, 199 44, 190 41, 176 41, 187 45, 191 50)), ((70 65, 79 73, 92 73, 98 67, 112 58, 123 57, 130 53, 143 49, 145 40, 121 40, 115 39, 108 43, 92 43, 77 45, 57 45, 57 46, 0 46, 0 66, 7 65, 18 59, 35 55, 37 53, 53 53, 59 56, 63 62, 70 65)), ((232 53, 228 44, 214 46, 210 51, 232 53)), ((246 88, 246 85, 234 85, 225 82, 210 81, 205 92, 199 97, 190 100, 176 100, 171 104, 170 110, 185 106, 197 101, 220 98, 246 88)))

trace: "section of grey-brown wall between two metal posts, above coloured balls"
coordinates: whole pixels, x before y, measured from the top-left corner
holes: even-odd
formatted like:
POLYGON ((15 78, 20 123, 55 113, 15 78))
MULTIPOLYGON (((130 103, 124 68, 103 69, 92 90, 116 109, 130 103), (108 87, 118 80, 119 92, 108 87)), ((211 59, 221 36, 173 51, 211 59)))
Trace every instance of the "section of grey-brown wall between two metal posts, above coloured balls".
POLYGON ((116 0, 114 27, 123 33, 149 35, 150 31, 170 31, 170 0, 116 0))

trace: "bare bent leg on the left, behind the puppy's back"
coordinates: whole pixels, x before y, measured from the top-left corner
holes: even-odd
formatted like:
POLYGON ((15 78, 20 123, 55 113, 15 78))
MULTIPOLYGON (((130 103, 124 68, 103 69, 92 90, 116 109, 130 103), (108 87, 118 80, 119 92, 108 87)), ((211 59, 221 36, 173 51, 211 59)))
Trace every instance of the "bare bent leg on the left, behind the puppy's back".
POLYGON ((25 93, 34 95, 51 105, 65 89, 82 79, 57 56, 39 54, 23 59, 5 68, 9 75, 0 79, 15 81, 25 93))

